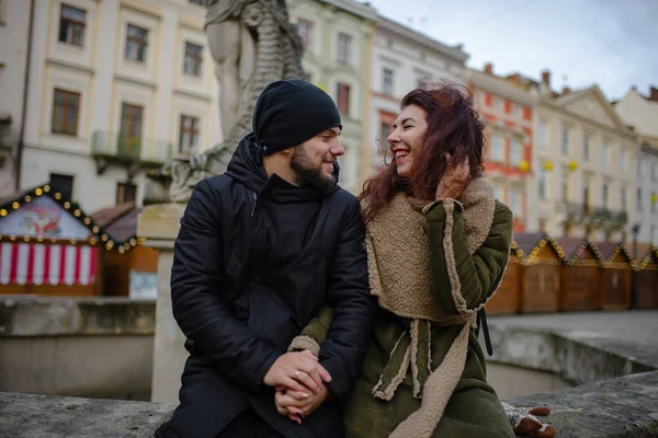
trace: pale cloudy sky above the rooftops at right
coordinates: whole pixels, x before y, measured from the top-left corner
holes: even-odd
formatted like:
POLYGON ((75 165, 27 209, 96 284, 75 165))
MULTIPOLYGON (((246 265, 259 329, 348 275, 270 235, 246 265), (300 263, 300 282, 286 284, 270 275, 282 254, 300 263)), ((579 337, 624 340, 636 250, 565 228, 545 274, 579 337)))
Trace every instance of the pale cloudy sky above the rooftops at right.
POLYGON ((520 71, 552 87, 598 83, 608 99, 658 87, 658 0, 371 0, 378 12, 449 45, 467 66, 520 71))

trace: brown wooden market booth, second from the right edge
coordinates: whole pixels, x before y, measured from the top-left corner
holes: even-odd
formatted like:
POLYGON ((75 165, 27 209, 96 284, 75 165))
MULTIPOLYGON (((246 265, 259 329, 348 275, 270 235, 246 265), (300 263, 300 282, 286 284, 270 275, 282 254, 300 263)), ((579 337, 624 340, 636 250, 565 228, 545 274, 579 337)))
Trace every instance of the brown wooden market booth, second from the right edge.
POLYGON ((622 242, 594 242, 602 257, 600 303, 604 310, 631 308, 635 261, 622 242))

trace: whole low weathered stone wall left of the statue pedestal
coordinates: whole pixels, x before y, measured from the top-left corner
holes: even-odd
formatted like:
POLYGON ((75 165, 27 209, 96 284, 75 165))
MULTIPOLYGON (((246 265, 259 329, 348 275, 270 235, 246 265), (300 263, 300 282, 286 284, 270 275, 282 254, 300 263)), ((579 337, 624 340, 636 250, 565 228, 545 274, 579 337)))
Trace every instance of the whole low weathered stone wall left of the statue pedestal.
POLYGON ((0 299, 0 391, 150 400, 155 303, 0 299))

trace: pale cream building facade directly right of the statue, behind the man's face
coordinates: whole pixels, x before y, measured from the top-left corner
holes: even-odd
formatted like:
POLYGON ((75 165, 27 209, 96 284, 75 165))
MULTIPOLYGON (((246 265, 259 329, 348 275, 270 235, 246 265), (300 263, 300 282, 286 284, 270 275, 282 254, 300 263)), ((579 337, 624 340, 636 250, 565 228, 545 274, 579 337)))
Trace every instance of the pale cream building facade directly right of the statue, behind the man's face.
POLYGON ((340 185, 360 191, 359 164, 368 132, 372 41, 376 12, 355 0, 288 0, 290 20, 304 44, 307 80, 324 89, 341 113, 345 154, 340 185))

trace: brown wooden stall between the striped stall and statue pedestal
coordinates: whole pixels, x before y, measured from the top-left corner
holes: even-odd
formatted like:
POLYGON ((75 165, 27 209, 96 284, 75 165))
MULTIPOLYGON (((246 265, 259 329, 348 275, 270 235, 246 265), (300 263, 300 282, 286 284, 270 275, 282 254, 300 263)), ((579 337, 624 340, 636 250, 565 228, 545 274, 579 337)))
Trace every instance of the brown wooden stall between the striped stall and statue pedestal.
POLYGON ((137 218, 141 208, 122 204, 103 208, 91 215, 110 238, 124 242, 116 251, 103 254, 103 289, 105 295, 134 299, 156 299, 158 252, 141 245, 137 238, 137 218))

